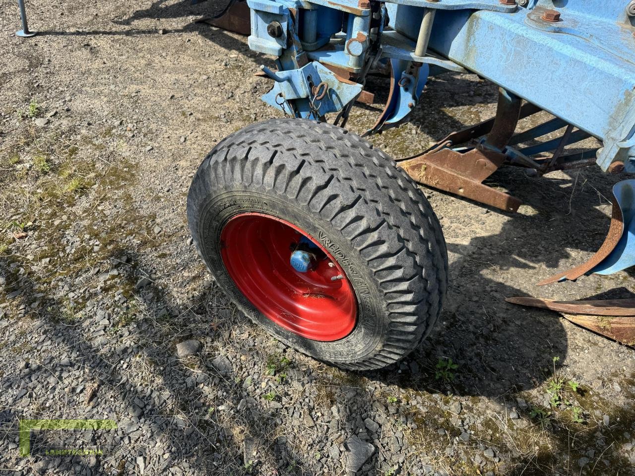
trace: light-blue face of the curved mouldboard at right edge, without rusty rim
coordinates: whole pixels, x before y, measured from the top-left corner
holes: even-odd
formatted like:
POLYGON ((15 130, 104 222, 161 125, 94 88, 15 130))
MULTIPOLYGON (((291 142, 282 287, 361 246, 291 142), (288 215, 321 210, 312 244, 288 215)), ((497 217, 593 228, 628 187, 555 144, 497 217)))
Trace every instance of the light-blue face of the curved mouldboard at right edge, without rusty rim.
POLYGON ((617 246, 588 274, 613 274, 635 265, 635 180, 622 180, 613 187, 624 230, 617 246))

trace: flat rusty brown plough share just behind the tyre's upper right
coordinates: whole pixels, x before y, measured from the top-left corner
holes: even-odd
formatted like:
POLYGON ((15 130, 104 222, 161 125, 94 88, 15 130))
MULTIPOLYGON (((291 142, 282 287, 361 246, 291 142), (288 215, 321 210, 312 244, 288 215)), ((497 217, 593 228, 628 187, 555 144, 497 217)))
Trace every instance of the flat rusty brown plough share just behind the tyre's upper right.
POLYGON ((521 201, 482 183, 504 161, 504 154, 492 150, 476 148, 462 154, 442 148, 399 162, 399 166, 414 180, 430 187, 505 211, 517 211, 521 201))

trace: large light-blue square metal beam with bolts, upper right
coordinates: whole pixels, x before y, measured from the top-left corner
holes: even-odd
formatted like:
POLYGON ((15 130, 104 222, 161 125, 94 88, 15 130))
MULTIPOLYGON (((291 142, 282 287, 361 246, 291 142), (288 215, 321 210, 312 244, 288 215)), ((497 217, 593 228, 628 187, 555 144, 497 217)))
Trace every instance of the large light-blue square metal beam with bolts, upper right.
POLYGON ((635 37, 615 19, 559 8, 561 27, 541 19, 551 1, 511 15, 438 11, 430 47, 604 142, 598 164, 635 156, 635 37), (441 26, 441 27, 438 27, 441 26), (579 34, 572 34, 577 30, 579 34))

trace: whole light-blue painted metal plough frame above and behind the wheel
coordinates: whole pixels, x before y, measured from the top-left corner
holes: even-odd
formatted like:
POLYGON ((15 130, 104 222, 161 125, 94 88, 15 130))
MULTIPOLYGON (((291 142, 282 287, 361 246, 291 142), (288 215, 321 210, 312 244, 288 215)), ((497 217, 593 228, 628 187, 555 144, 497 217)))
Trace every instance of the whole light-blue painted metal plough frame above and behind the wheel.
POLYGON ((274 88, 263 99, 291 116, 322 120, 349 109, 370 63, 387 60, 394 81, 375 133, 407 118, 429 74, 465 69, 556 116, 543 134, 572 124, 580 131, 570 142, 603 142, 602 169, 620 161, 635 171, 635 27, 624 0, 521 3, 525 8, 499 0, 248 0, 250 48, 278 58, 278 72, 268 73, 274 88), (558 11, 559 21, 546 21, 545 10, 558 11), (272 22, 281 36, 269 34, 272 22), (328 94, 318 109, 321 83, 328 94))

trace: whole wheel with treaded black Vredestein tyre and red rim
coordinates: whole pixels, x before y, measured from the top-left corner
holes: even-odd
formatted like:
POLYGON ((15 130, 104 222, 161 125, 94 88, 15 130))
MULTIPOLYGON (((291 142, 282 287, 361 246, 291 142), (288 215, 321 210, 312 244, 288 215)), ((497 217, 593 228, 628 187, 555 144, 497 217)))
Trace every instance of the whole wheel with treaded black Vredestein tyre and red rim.
POLYGON ((392 159, 344 129, 272 119, 233 133, 199 166, 187 218, 237 307, 328 364, 397 362, 441 312, 448 258, 438 219, 392 159), (296 253, 300 265, 290 263, 296 253))

